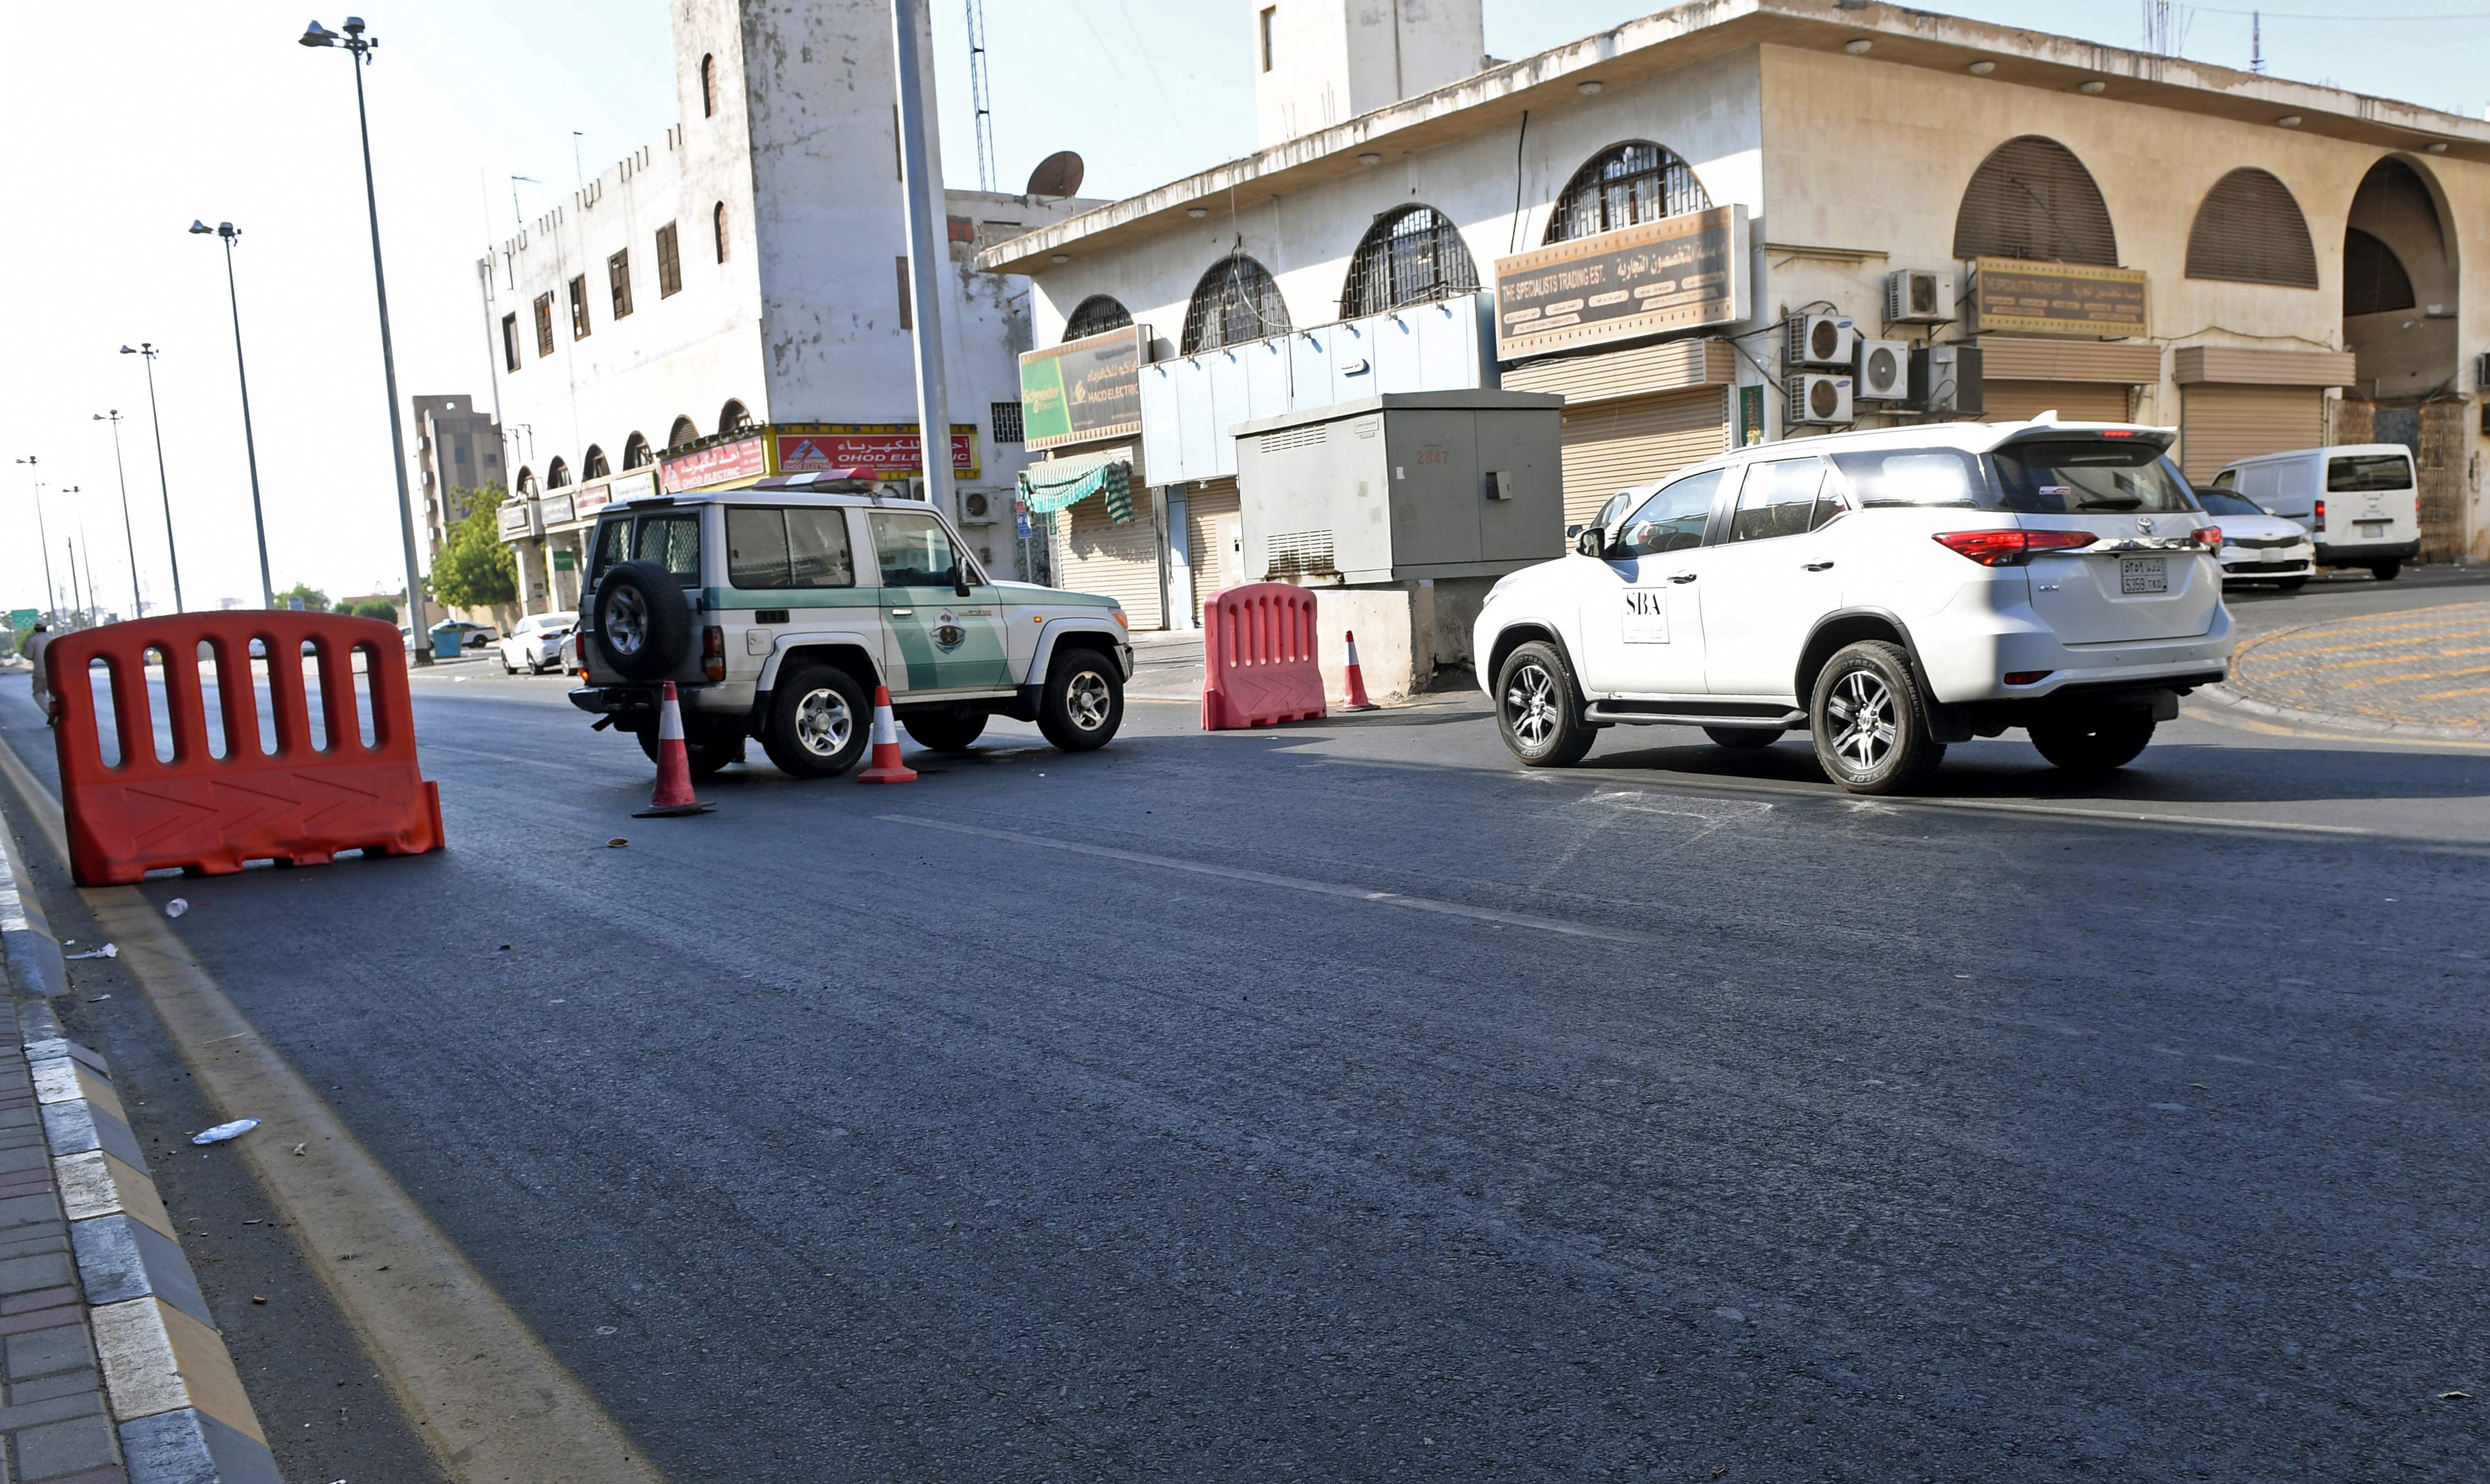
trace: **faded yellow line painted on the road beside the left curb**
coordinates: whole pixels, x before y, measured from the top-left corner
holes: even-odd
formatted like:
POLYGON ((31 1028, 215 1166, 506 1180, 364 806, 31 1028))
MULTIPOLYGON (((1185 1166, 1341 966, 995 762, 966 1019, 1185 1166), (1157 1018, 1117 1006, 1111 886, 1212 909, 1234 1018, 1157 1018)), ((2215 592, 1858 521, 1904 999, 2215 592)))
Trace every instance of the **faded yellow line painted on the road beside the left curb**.
MULTIPOLYGON (((70 859, 60 802, 0 742, 0 777, 70 859)), ((665 1484, 456 1242, 286 1066, 137 886, 85 889, 122 969, 222 1118, 256 1115, 232 1148, 301 1245, 456 1484, 665 1484), (304 1145, 304 1158, 289 1150, 304 1145), (354 1262, 339 1262, 354 1252, 354 1262)))

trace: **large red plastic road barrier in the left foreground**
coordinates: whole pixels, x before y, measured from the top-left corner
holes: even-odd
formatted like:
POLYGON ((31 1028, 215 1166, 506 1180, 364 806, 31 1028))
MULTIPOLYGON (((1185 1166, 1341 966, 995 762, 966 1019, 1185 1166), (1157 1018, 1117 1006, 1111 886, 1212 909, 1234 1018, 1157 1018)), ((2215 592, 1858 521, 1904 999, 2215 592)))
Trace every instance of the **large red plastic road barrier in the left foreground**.
POLYGON ((441 849, 441 792, 416 772, 406 640, 376 618, 334 613, 187 613, 60 635, 45 650, 60 727, 60 809, 70 874, 120 886, 152 869, 222 876, 244 862, 326 864, 341 849, 441 849), (266 652, 276 752, 259 744, 251 642, 266 652), (224 757, 209 752, 199 645, 217 665, 224 757), (316 657, 326 747, 311 744, 304 645, 316 657), (162 662, 172 762, 157 757, 149 650, 162 662), (361 650, 371 747, 354 705, 361 650), (105 762, 90 665, 112 672, 120 762, 105 762))

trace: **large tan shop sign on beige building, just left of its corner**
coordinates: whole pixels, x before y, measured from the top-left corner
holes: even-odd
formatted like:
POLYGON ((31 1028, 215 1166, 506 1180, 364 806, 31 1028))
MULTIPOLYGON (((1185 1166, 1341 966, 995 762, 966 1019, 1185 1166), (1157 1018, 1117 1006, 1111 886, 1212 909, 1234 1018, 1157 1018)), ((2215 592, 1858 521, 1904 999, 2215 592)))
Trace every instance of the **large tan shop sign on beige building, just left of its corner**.
POLYGON ((1496 359, 1748 316, 1745 207, 1686 212, 1496 259, 1496 359))

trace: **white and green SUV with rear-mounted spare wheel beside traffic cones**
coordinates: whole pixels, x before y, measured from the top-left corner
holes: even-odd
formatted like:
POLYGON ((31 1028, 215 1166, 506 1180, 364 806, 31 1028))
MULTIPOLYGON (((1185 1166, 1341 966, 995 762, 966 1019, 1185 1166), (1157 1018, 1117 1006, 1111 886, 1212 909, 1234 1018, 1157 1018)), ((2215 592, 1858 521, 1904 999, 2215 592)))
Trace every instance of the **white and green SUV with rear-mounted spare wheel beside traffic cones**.
POLYGON ((1036 722, 1066 752, 1103 747, 1133 675, 1123 608, 996 583, 931 505, 874 491, 862 473, 799 473, 608 508, 570 705, 655 757, 672 680, 695 774, 759 737, 784 772, 837 777, 867 747, 876 685, 941 752, 986 717, 1036 722))

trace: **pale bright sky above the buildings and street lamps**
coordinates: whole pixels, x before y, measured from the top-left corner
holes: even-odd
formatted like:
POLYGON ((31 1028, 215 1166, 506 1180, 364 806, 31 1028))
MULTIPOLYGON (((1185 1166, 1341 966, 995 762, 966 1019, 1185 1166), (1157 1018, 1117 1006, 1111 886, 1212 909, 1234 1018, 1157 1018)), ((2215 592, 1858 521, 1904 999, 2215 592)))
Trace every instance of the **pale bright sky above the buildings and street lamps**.
MULTIPOLYGON (((944 177, 976 187, 969 0, 931 0, 944 177)), ((1252 149, 1255 0, 984 0, 994 182, 1018 189, 1056 149, 1088 162, 1083 194, 1123 197, 1252 149)), ((1526 57, 1619 25, 1633 0, 1487 0, 1487 50, 1526 57)), ((2109 45, 2141 40, 2136 0, 1925 5, 2109 45)), ((2248 62, 2246 5, 2181 5, 2181 52, 2248 62)), ((2490 105, 2490 0, 2281 0, 2261 7, 2266 70, 2473 117, 2490 105), (2435 20, 2423 20, 2435 17, 2435 20)), ((366 0, 381 37, 364 72, 378 174, 398 398, 491 396, 473 264, 677 120, 665 0, 366 0), (510 177, 533 177, 513 182, 510 177)), ((110 10, 110 85, 82 5, 0 5, 0 90, 20 227, 0 237, 0 610, 77 583, 127 613, 129 550, 147 608, 259 598, 224 249, 192 219, 234 222, 259 491, 276 590, 331 598, 403 583, 371 237, 344 52, 294 45, 299 0, 129 0, 110 10), (30 60, 55 65, 27 65, 30 60), (164 486, 139 356, 152 341, 164 486), (120 411, 127 466, 115 471, 120 411), (20 466, 17 458, 37 458, 20 466), (40 478, 37 540, 32 478, 40 478), (77 493, 67 493, 77 486, 77 493)), ((329 27, 344 12, 321 15, 329 27)), ((408 428, 408 446, 413 431, 408 428)), ((416 491, 421 500, 421 491, 416 491)), ((62 598, 67 605, 67 598, 62 598)))

